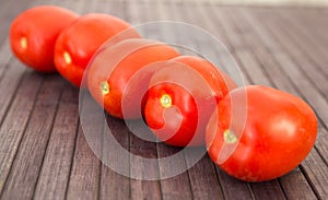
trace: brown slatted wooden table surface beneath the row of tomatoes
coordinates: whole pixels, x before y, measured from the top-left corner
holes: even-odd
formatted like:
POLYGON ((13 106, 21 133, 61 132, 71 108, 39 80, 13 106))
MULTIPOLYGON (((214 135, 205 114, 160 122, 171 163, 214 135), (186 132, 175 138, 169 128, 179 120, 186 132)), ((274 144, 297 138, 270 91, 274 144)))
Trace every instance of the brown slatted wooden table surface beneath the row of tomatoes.
MULTIPOLYGON (((309 103, 319 121, 311 154, 283 177, 251 184, 230 177, 208 155, 164 180, 129 179, 102 164, 81 129, 79 90, 58 74, 25 68, 11 54, 8 31, 12 19, 42 3, 0 2, 1 199, 328 198, 327 8, 221 7, 168 0, 47 2, 79 13, 110 13, 132 24, 171 20, 202 27, 226 45, 246 84, 270 85, 309 103)), ((133 153, 156 157, 177 151, 133 137, 118 119, 108 117, 108 121, 118 132, 117 140, 133 153)), ((102 125, 94 121, 90 129, 99 132, 102 125)))

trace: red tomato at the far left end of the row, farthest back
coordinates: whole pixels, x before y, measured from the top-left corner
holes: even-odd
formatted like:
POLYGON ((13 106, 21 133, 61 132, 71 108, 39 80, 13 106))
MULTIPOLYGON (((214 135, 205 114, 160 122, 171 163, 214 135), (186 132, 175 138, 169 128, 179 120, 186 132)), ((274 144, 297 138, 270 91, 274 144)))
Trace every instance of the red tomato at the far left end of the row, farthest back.
POLYGON ((54 64, 56 39, 75 19, 78 14, 55 5, 26 10, 11 24, 12 51, 22 62, 37 71, 56 71, 54 64))

